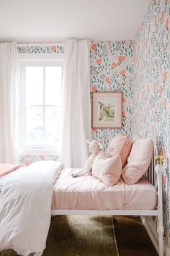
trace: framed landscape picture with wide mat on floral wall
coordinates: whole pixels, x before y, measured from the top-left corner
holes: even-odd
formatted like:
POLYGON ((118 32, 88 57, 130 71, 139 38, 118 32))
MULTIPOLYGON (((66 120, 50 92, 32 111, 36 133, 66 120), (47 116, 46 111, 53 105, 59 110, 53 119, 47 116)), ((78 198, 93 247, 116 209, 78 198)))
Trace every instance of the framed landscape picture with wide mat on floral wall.
POLYGON ((122 127, 122 92, 93 93, 92 127, 122 127))

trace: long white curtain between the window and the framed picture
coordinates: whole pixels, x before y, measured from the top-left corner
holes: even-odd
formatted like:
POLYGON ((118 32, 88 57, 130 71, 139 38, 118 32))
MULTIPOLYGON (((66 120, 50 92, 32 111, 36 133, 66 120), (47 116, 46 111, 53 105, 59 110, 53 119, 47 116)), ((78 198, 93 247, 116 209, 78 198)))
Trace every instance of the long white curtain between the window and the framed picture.
POLYGON ((63 125, 61 161, 66 167, 83 168, 91 137, 89 40, 64 42, 63 125))

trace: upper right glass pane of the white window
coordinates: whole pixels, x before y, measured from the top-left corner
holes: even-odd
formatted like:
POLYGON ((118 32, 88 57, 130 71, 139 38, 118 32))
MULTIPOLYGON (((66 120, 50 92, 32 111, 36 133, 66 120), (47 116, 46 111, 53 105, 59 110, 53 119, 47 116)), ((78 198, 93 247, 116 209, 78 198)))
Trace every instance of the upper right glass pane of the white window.
POLYGON ((62 67, 45 67, 45 104, 61 105, 62 67))

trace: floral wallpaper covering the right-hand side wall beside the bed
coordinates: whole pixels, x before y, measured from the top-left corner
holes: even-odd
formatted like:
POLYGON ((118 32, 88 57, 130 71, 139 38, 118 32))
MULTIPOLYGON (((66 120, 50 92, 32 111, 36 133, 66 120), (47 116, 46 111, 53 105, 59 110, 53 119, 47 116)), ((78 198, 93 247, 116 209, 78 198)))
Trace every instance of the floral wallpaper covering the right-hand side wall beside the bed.
MULTIPOLYGON (((151 0, 135 37, 132 134, 153 135, 170 160, 170 1, 151 0)), ((168 163, 169 164, 169 163, 168 163)), ((164 184, 164 237, 170 248, 169 168, 164 184)))

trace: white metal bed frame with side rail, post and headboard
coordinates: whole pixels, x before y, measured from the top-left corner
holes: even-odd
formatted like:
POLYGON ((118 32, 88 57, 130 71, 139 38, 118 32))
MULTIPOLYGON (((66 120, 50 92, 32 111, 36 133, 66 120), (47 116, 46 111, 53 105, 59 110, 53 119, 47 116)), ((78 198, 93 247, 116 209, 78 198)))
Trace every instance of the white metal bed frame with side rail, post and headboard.
POLYGON ((163 226, 163 205, 162 205, 162 174, 164 166, 156 166, 156 155, 158 150, 156 142, 153 140, 154 153, 151 165, 146 173, 146 178, 158 191, 158 202, 156 210, 51 210, 55 215, 112 215, 112 216, 157 216, 158 217, 158 255, 164 256, 164 226, 163 226))

